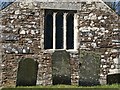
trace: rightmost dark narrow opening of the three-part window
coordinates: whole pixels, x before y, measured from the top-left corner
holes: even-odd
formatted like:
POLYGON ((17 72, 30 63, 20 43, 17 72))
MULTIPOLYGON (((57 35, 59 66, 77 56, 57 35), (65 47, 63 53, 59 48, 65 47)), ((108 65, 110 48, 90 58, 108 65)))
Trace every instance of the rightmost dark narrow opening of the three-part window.
POLYGON ((67 16, 67 49, 74 48, 74 16, 69 14, 67 16))

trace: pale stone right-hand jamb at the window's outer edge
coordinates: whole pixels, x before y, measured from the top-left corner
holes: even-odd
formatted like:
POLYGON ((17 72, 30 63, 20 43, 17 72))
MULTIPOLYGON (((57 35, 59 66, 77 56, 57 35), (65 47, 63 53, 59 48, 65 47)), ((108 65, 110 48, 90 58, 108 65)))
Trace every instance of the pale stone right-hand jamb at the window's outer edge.
POLYGON ((77 14, 74 14, 74 49, 77 50, 77 26, 78 26, 78 19, 77 19, 77 14))

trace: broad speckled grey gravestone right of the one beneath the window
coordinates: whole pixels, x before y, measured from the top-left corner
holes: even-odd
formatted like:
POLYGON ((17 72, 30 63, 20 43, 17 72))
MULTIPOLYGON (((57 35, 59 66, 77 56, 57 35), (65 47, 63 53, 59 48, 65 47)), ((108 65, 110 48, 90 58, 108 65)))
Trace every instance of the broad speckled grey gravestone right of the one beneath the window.
POLYGON ((99 85, 100 79, 100 55, 91 51, 80 52, 80 86, 99 85))

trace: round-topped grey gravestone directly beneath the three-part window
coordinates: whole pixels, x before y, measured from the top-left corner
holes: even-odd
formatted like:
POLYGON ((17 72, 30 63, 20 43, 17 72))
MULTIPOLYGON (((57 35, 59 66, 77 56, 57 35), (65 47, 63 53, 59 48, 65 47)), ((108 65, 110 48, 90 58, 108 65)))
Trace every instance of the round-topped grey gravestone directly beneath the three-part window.
POLYGON ((52 55, 52 79, 55 84, 71 84, 70 56, 66 51, 55 51, 52 55))

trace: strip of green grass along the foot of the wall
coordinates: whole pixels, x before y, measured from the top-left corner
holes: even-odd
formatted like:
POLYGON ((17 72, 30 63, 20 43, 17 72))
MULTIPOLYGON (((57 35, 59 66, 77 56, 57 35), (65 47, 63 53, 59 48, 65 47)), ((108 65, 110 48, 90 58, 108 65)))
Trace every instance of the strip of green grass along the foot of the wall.
POLYGON ((20 86, 3 88, 2 90, 120 90, 120 84, 101 85, 101 86, 72 86, 72 85, 52 85, 52 86, 20 86))

